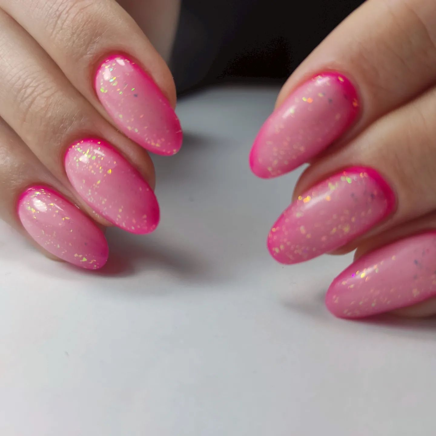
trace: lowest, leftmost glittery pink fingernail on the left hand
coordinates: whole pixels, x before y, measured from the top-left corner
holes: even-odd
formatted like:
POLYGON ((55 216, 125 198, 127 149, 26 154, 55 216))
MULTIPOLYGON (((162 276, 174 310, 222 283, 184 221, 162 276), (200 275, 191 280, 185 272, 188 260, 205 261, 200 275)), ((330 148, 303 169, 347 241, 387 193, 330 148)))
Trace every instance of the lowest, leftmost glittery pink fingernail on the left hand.
POLYGON ((29 235, 51 254, 85 269, 99 269, 109 249, 103 232, 74 204, 47 187, 31 187, 18 201, 29 235))

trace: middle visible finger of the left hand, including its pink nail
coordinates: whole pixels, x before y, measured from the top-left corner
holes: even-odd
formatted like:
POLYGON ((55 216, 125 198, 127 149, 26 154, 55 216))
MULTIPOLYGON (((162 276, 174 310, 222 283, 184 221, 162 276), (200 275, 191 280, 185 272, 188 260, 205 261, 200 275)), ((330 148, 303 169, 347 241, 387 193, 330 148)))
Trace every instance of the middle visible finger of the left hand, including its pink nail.
POLYGON ((107 123, 3 11, 0 27, 0 58, 5 60, 0 115, 65 186, 71 182, 92 210, 126 231, 152 232, 159 221, 157 200, 129 162, 135 161, 153 181, 146 152, 107 123))

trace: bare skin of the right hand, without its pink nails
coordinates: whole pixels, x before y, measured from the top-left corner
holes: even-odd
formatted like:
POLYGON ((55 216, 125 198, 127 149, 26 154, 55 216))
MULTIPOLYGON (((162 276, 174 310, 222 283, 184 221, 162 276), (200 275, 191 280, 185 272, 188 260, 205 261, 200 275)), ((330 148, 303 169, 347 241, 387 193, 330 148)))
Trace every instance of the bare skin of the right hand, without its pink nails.
MULTIPOLYGON (((385 243, 435 227, 436 195, 428 188, 434 180, 435 61, 434 2, 368 0, 303 61, 280 91, 276 109, 318 72, 340 71, 354 83, 361 102, 357 122, 311 160, 294 199, 356 165, 377 170, 395 192, 392 215, 333 254, 357 248, 358 259, 385 243)), ((435 302, 396 313, 429 316, 436 313, 435 302)))

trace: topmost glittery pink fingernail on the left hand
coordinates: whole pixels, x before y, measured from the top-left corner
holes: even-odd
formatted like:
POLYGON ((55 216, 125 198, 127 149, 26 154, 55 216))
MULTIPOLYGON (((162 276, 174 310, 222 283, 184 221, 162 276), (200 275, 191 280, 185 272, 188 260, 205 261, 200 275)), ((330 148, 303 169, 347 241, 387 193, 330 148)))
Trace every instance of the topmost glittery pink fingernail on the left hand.
POLYGON ((182 145, 182 129, 170 102, 134 61, 112 55, 95 75, 100 102, 118 128, 152 153, 173 155, 182 145))

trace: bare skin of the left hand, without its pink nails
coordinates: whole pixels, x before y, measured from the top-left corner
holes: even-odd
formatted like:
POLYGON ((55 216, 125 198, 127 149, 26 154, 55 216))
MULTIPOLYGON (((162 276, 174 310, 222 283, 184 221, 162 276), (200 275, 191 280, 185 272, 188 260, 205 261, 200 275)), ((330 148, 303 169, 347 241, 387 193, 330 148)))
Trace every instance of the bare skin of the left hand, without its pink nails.
MULTIPOLYGON (((0 2, 0 58, 7 66, 7 81, 0 87, 5 103, 0 123, 0 181, 6 187, 0 207, 1 218, 20 232, 17 198, 35 183, 53 187, 98 225, 110 225, 85 204, 66 177, 63 157, 78 137, 92 135, 108 140, 135 163, 152 188, 155 186, 148 153, 118 132, 95 95, 93 74, 102 57, 114 48, 129 53, 146 65, 146 72, 174 108, 172 75, 144 31, 150 25, 145 19, 150 16, 150 7, 160 17, 150 26, 151 37, 159 42, 157 29, 164 27, 174 34, 180 2, 161 3, 168 14, 159 14, 156 2, 126 2, 132 14, 141 11, 138 24, 123 6, 123 2, 91 0, 0 2), (10 92, 11 87, 14 92, 10 92)), ((167 56, 172 39, 158 44, 167 56)))

